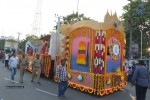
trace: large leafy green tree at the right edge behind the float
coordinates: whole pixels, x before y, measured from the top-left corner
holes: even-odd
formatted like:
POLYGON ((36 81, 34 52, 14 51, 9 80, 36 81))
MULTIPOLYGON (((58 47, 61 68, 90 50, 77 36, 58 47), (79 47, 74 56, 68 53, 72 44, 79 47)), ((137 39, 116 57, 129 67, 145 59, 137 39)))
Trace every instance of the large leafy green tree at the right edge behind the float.
MULTIPOLYGON (((141 46, 141 31, 143 35, 143 55, 146 54, 146 48, 150 47, 150 3, 141 2, 138 0, 136 2, 131 2, 123 7, 124 14, 122 19, 124 21, 125 33, 127 39, 127 49, 129 51, 130 44, 130 31, 132 30, 132 42, 139 44, 141 46), (144 7, 144 14, 138 15, 136 9, 142 4, 144 7)), ((140 10, 140 9, 139 9, 140 10)), ((127 52, 128 53, 128 52, 127 52)), ((139 53, 140 54, 140 53, 139 53)))

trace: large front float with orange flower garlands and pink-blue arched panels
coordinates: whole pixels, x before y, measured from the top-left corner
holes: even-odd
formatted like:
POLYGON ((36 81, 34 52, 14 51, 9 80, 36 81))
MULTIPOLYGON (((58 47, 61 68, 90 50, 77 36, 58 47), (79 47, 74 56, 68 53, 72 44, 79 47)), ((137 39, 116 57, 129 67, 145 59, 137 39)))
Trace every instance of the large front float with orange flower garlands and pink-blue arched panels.
POLYGON ((62 25, 61 33, 70 87, 103 96, 126 85, 126 40, 116 13, 107 12, 103 23, 83 20, 62 25))

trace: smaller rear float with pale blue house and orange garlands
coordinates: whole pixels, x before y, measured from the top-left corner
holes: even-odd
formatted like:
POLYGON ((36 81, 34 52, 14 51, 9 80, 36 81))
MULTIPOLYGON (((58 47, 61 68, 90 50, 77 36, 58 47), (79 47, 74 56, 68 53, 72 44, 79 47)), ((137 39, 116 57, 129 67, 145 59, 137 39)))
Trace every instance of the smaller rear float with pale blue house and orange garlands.
POLYGON ((51 57, 48 55, 48 41, 50 40, 50 35, 46 35, 39 40, 30 40, 26 43, 26 57, 29 60, 28 71, 32 72, 32 62, 36 58, 36 54, 40 54, 40 59, 42 60, 42 74, 49 78, 51 70, 51 57), (32 49, 30 49, 32 47, 32 49), (31 53, 33 52, 33 53, 31 53))

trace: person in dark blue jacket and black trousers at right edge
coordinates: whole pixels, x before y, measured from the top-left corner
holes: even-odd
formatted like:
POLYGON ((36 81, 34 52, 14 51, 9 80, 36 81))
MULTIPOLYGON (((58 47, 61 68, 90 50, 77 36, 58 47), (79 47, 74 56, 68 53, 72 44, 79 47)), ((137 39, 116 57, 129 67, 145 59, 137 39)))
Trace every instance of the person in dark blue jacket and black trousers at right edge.
POLYGON ((143 60, 139 60, 139 66, 135 69, 132 83, 136 88, 136 100, 145 100, 149 86, 149 75, 143 60))

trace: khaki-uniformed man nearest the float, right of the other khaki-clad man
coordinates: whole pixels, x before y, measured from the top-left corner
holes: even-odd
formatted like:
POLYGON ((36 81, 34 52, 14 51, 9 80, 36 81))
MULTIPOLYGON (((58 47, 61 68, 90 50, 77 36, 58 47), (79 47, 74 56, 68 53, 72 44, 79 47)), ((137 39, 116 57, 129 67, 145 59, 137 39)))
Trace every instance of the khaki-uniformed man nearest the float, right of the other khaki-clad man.
POLYGON ((40 84, 40 75, 41 75, 41 69, 42 69, 42 61, 40 60, 40 55, 36 55, 36 59, 32 63, 32 80, 34 81, 36 72, 37 72, 37 83, 40 84))

